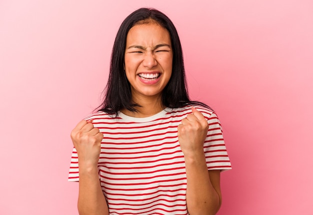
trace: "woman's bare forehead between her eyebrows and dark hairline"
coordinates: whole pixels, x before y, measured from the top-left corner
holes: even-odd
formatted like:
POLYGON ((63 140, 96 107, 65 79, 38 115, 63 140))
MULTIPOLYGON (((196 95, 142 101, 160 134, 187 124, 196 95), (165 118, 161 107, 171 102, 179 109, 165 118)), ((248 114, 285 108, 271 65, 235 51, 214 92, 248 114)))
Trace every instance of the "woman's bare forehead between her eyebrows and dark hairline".
POLYGON ((170 45, 170 35, 167 29, 155 22, 136 24, 128 31, 126 43, 127 45, 132 45, 132 43, 167 43, 170 45))

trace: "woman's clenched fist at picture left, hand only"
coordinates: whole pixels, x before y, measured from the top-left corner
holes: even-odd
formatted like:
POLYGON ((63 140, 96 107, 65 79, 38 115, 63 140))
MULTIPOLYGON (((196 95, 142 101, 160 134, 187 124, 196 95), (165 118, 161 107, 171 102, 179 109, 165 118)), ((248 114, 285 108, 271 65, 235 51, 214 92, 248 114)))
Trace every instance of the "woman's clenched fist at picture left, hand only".
POLYGON ((77 151, 78 162, 88 166, 96 166, 101 151, 103 134, 94 128, 92 120, 82 120, 70 134, 73 145, 77 151))

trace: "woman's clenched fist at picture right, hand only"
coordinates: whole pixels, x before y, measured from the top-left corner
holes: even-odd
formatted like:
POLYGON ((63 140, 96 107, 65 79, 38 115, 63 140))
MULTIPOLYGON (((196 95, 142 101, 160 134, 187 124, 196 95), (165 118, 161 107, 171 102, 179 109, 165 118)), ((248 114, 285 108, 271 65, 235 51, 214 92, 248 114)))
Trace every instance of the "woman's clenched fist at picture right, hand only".
POLYGON ((208 124, 204 116, 191 107, 192 113, 181 120, 178 125, 178 142, 184 156, 203 153, 203 143, 207 134, 208 124))

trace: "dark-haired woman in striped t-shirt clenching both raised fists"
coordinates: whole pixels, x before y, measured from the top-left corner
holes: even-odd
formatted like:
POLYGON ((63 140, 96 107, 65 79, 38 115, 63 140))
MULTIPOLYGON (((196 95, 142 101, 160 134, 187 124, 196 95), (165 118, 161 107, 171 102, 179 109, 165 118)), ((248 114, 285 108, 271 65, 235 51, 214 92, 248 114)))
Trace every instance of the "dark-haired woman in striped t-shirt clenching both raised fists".
POLYGON ((99 108, 71 132, 80 215, 216 214, 230 162, 217 116, 188 97, 166 15, 140 8, 122 22, 99 108))

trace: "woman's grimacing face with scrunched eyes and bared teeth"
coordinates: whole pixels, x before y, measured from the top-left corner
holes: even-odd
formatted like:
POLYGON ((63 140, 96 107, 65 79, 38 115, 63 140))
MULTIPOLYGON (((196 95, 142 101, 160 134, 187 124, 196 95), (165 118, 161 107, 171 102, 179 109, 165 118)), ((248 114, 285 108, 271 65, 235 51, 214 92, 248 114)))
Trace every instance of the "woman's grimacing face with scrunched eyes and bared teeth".
POLYGON ((172 59, 170 36, 165 28, 156 23, 130 28, 126 38, 125 73, 132 99, 159 97, 171 76, 172 59))

